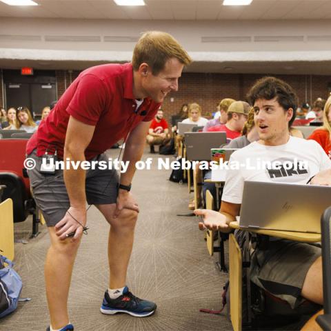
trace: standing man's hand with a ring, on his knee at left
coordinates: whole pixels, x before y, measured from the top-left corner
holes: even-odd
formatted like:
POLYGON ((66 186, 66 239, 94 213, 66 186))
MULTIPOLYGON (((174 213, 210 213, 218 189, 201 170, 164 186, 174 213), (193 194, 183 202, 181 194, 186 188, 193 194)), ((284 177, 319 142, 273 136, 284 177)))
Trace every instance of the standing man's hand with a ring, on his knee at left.
POLYGON ((57 236, 61 240, 72 238, 73 241, 79 239, 86 225, 86 209, 70 207, 63 219, 55 225, 57 236), (74 235, 72 236, 72 234, 74 235))

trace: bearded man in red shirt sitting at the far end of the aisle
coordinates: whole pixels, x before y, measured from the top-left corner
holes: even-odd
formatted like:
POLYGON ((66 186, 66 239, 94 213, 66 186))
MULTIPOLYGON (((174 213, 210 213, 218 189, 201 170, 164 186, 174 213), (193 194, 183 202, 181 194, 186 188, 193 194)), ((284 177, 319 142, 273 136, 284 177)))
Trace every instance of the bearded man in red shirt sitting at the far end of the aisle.
POLYGON ((170 141, 168 123, 163 119, 163 110, 161 108, 150 123, 146 141, 150 145, 151 153, 155 152, 154 145, 165 145, 170 141))

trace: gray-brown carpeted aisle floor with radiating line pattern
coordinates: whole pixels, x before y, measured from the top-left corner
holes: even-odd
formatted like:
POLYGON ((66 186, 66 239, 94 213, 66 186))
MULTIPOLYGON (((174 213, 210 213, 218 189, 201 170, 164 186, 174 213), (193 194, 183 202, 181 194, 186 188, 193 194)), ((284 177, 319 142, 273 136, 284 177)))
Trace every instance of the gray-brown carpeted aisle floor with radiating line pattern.
MULTIPOLYGON (((115 157, 119 150, 111 150, 115 157)), ((108 284, 106 257, 108 224, 92 206, 88 211, 88 235, 83 237, 70 289, 70 321, 75 330, 232 330, 221 315, 199 312, 199 308, 221 308, 221 292, 227 274, 217 270, 217 255, 210 257, 197 228, 195 217, 177 217, 188 213, 188 188, 168 181, 170 170, 157 170, 158 154, 152 157, 152 170, 140 170, 132 183, 132 192, 141 212, 128 270, 128 286, 139 297, 155 301, 157 312, 138 319, 126 314, 106 316, 99 311, 108 284)), ((164 157, 163 157, 164 158, 164 157)), ((174 158, 170 156, 174 161, 174 158)), ((46 227, 29 239, 32 221, 14 225, 15 269, 23 279, 22 297, 10 316, 1 319, 1 331, 46 330, 49 323, 43 280, 43 261, 49 245, 46 227)), ((227 245, 225 245, 227 246, 227 245)), ((227 250, 227 247, 225 248, 227 250)), ((61 284, 59 284, 60 286, 61 284)))

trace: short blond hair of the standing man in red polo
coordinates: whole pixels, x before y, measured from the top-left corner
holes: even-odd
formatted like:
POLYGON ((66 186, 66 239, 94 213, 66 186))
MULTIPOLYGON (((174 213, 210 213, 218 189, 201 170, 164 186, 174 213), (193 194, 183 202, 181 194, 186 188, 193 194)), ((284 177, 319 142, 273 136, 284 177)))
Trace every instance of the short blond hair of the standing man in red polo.
POLYGON ((139 38, 132 56, 133 70, 137 71, 141 63, 147 63, 156 75, 169 59, 176 58, 188 66, 192 59, 170 34, 161 31, 148 31, 139 38))

